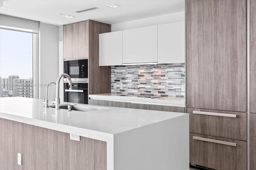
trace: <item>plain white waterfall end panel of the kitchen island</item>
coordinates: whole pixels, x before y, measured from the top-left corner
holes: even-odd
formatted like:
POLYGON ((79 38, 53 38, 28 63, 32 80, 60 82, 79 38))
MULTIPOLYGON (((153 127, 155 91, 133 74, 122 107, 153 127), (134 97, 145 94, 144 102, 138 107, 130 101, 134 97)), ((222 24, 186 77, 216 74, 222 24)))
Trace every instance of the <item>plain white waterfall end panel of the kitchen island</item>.
POLYGON ((188 117, 114 135, 114 170, 189 170, 188 117))

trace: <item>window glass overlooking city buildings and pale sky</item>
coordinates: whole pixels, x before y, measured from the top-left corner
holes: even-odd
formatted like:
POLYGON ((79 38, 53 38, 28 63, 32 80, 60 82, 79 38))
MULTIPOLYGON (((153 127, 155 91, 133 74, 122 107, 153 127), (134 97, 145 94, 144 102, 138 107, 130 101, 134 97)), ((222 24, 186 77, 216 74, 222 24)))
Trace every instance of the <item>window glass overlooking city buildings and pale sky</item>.
POLYGON ((0 28, 0 97, 33 98, 33 36, 0 28))

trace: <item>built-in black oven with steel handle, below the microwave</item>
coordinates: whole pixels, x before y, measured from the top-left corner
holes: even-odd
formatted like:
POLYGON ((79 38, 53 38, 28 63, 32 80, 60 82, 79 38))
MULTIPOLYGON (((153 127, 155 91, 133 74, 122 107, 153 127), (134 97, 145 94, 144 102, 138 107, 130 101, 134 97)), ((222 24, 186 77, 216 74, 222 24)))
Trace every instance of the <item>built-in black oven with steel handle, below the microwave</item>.
POLYGON ((72 82, 72 90, 64 83, 64 102, 88 104, 88 83, 72 82))

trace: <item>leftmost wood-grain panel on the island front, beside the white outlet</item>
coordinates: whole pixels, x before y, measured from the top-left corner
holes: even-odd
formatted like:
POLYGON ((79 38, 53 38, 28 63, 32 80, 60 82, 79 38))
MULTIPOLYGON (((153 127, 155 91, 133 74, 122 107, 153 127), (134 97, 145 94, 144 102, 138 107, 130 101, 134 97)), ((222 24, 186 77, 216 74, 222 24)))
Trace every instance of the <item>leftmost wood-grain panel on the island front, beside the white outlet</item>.
POLYGON ((18 122, 0 118, 0 170, 17 170, 18 122))

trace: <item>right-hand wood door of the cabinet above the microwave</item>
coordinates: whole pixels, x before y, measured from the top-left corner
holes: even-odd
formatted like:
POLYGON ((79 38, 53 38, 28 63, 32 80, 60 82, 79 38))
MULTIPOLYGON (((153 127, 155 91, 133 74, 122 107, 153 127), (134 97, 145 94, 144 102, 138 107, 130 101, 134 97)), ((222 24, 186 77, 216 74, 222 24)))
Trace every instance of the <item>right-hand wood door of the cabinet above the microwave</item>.
POLYGON ((76 59, 88 58, 88 21, 75 23, 76 59))

